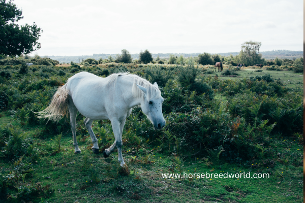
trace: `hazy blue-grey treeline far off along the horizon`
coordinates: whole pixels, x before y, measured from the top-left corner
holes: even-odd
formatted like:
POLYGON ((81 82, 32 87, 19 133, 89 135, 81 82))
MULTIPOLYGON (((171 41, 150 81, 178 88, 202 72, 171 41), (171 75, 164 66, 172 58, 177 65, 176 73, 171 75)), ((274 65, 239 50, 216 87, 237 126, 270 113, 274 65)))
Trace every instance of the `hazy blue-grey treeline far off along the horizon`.
MULTIPOLYGON (((288 51, 288 50, 272 50, 272 51, 261 51, 259 52, 262 54, 263 58, 266 59, 275 59, 276 57, 278 58, 299 58, 299 57, 303 57, 303 51, 288 51)), ((161 59, 164 58, 169 58, 170 55, 174 55, 174 56, 183 56, 183 57, 196 57, 198 56, 200 53, 156 53, 156 54, 151 54, 153 56, 153 58, 157 58, 158 56, 161 59)), ((239 54, 239 52, 228 52, 228 53, 218 53, 221 56, 230 56, 231 54, 233 56, 236 56, 239 54)), ((82 56, 48 56, 49 58, 53 59, 53 60, 58 60, 60 63, 70 63, 71 61, 73 62, 81 62, 82 60, 85 60, 87 58, 94 58, 96 60, 99 60, 100 58, 102 59, 106 59, 109 56, 115 58, 116 54, 93 54, 93 55, 82 55, 82 56)), ((139 58, 139 54, 131 54, 131 57, 133 59, 138 59, 139 58)))

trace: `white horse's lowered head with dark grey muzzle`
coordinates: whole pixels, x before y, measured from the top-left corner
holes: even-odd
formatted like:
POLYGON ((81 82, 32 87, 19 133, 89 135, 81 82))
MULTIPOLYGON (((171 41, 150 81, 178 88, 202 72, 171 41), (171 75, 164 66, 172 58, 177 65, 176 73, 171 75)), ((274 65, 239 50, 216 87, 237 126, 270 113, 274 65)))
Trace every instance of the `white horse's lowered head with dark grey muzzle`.
POLYGON ((148 91, 147 88, 138 85, 139 89, 144 93, 141 100, 142 112, 147 115, 151 123, 153 123, 155 129, 160 130, 165 126, 165 120, 162 114, 163 98, 159 90, 158 84, 155 82, 155 87, 149 87, 150 90, 157 91, 157 95, 152 97, 152 91, 148 91))

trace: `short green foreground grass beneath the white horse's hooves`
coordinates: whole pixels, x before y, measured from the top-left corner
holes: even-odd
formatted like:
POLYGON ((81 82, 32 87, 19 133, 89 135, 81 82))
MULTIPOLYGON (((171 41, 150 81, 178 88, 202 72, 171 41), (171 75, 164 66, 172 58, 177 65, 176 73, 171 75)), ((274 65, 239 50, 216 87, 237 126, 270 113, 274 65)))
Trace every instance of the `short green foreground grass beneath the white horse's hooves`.
MULTIPOLYGON (((13 120, 9 116, 0 118, 0 123, 8 121, 12 123, 13 120)), ((23 129, 32 134, 37 130, 35 127, 23 129)), ((292 164, 295 157, 300 159, 303 156, 302 146, 293 138, 272 139, 270 146, 265 146, 267 151, 264 156, 277 160, 274 167, 260 165, 258 168, 248 168, 224 162, 213 165, 196 155, 186 158, 181 164, 182 172, 186 173, 270 173, 269 179, 193 180, 162 178, 161 173, 178 173, 179 170, 178 166, 173 166, 174 156, 158 153, 158 147, 151 154, 152 163, 145 164, 143 161, 137 162, 145 156, 145 150, 136 150, 136 146, 126 143, 123 146, 126 150, 123 157, 132 174, 123 176, 117 172, 117 152, 113 152, 109 158, 104 158, 101 153, 96 155, 89 149, 89 138, 80 143, 82 153, 77 155, 74 154, 71 133, 62 139, 63 151, 53 155, 46 153, 43 148, 54 145, 54 137, 34 139, 34 146, 42 154, 37 163, 32 163, 35 170, 32 176, 27 176, 24 183, 19 183, 19 187, 50 185, 54 189, 50 197, 38 198, 33 202, 302 202, 303 167, 292 164), (133 148, 135 155, 129 154, 133 148), (88 155, 87 169, 83 167, 85 155, 88 155), (133 156, 137 156, 134 163, 131 162, 133 156), (289 164, 281 163, 285 159, 289 160, 289 164), (169 171, 169 168, 173 168, 173 171, 169 171), (90 174, 93 169, 100 182, 92 182, 90 174)), ((150 151, 151 148, 147 147, 146 150, 150 151)), ((262 164, 261 162, 257 160, 253 164, 262 164)), ((1 160, 1 170, 9 173, 13 171, 13 165, 1 160)))

